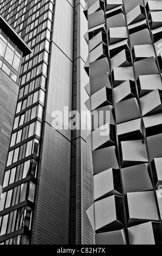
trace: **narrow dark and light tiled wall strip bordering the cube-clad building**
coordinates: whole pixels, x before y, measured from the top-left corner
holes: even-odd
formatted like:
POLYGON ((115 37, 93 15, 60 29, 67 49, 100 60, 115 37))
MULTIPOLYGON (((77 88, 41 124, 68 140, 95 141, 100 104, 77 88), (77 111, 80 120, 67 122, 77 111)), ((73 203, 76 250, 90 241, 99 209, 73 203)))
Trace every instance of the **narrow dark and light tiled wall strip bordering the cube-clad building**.
POLYGON ((85 142, 88 130, 82 130, 82 111, 87 108, 84 102, 88 96, 84 85, 89 78, 84 70, 88 46, 83 38, 87 30, 87 20, 83 14, 85 2, 74 1, 74 54, 73 54, 73 104, 72 110, 80 114, 76 120, 79 130, 72 131, 71 193, 70 193, 70 230, 69 244, 94 244, 94 231, 86 215, 93 202, 92 155, 85 142), (73 189, 75 187, 75 190, 73 189))

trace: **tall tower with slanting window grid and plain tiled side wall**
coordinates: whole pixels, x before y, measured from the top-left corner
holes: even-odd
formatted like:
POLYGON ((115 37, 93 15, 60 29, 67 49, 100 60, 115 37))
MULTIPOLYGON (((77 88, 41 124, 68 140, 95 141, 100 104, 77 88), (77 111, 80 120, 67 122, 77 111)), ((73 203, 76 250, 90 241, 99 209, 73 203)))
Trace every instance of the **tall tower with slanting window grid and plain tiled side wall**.
MULTIPOLYGON (((8 157, 2 166, 3 245, 94 243, 86 214, 93 203, 92 154, 85 141, 89 131, 68 126, 71 111, 87 109, 84 8, 83 0, 0 1, 0 14, 18 33, 18 40, 21 36, 28 45, 22 52, 30 53, 29 47, 32 51, 24 54, 18 85, 8 85, 14 124, 10 124, 10 145, 8 149, 8 136, 4 149, 8 157), (62 129, 55 129, 56 111, 62 113, 62 129)), ((9 64, 12 70, 14 63, 9 64)), ((7 72, 15 77, 12 72, 17 74, 18 69, 7 72)), ((80 117, 75 121, 79 126, 85 122, 80 117)))

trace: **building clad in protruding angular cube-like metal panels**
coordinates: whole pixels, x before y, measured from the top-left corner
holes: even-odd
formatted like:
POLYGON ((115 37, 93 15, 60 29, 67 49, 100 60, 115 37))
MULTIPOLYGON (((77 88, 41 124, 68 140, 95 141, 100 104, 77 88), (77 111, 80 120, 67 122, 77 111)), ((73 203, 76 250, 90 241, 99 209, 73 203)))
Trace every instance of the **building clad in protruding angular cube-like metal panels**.
POLYGON ((161 245, 162 1, 87 0, 84 12, 95 242, 161 245))

